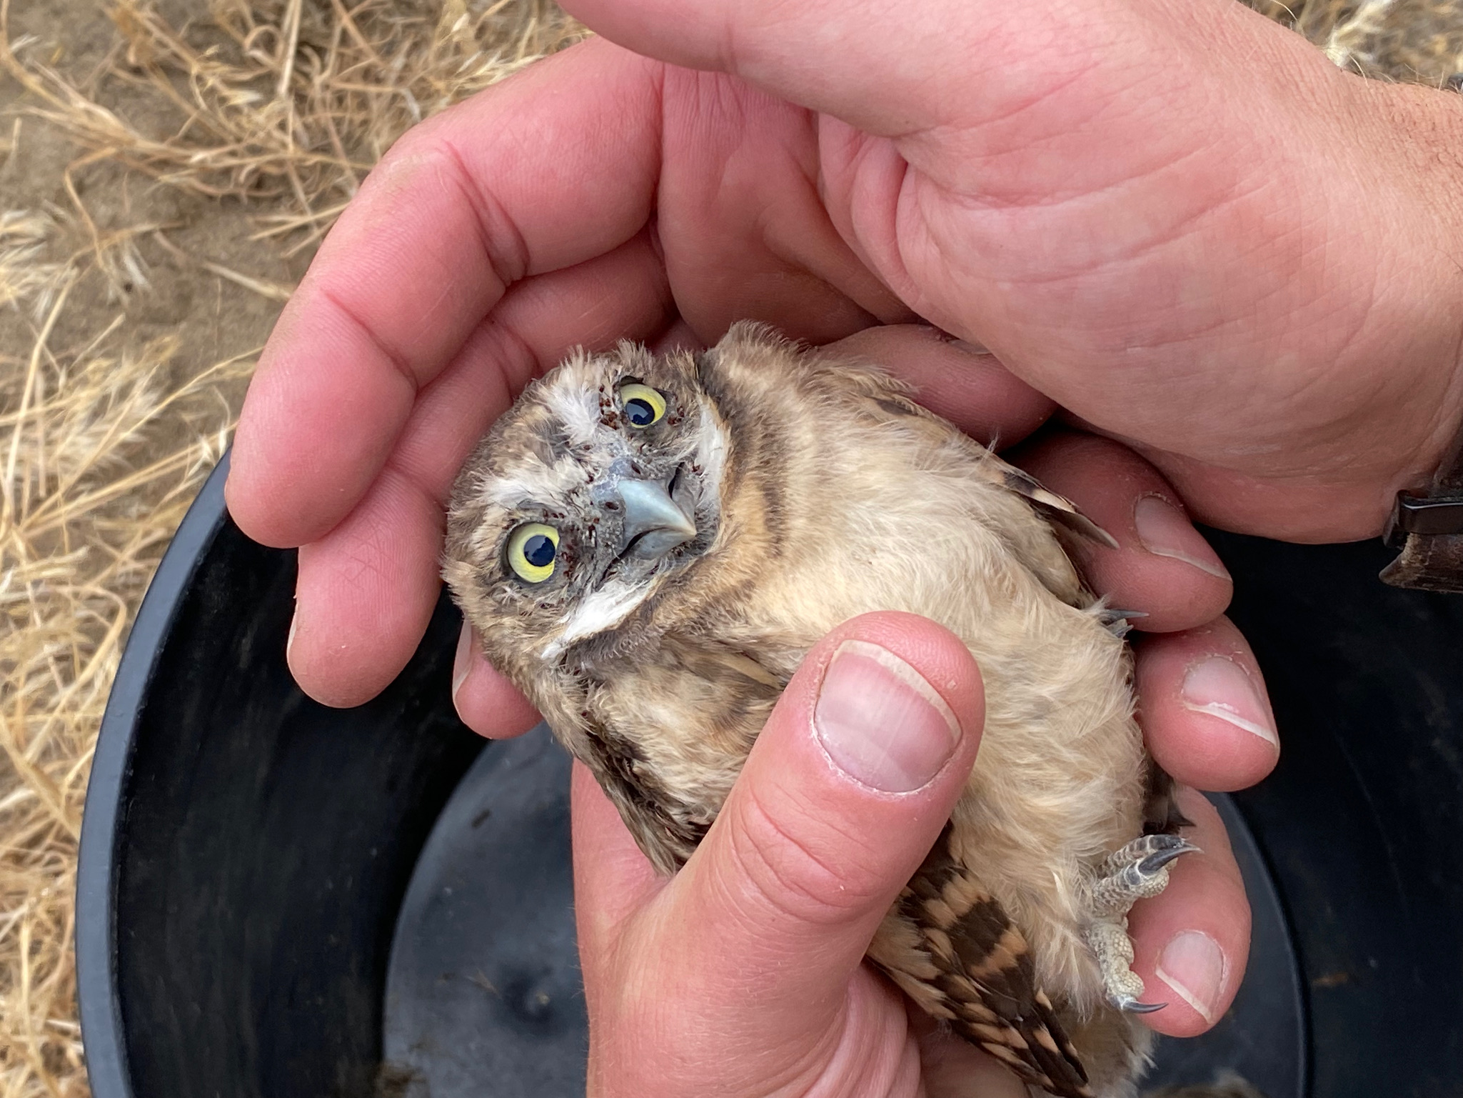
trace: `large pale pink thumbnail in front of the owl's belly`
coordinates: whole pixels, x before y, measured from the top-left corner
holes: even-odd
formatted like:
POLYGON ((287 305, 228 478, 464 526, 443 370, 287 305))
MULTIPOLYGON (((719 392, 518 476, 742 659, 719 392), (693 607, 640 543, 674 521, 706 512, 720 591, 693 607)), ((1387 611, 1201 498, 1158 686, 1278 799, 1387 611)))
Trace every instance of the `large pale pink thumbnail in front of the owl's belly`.
POLYGON ((868 641, 838 646, 818 692, 813 731, 844 773, 888 793, 926 785, 960 742, 960 722, 935 688, 868 641))

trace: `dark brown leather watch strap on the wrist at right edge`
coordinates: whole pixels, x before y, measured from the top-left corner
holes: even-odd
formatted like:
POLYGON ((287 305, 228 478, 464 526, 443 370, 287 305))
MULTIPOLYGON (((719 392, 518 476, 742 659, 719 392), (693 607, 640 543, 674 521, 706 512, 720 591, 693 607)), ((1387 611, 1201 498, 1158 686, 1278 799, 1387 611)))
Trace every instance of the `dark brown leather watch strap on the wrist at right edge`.
POLYGON ((1381 569, 1384 583, 1463 593, 1463 432, 1426 492, 1397 493, 1383 540, 1402 549, 1381 569))

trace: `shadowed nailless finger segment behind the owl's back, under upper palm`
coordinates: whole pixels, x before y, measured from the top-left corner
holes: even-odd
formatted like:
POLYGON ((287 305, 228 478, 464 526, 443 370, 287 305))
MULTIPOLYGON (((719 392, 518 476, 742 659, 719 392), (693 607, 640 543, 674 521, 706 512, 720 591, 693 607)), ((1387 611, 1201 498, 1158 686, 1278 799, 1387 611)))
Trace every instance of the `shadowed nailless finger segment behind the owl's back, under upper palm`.
POLYGON ((865 328, 828 350, 862 356, 914 386, 914 400, 988 445, 1011 445, 1056 407, 985 348, 926 324, 865 328))

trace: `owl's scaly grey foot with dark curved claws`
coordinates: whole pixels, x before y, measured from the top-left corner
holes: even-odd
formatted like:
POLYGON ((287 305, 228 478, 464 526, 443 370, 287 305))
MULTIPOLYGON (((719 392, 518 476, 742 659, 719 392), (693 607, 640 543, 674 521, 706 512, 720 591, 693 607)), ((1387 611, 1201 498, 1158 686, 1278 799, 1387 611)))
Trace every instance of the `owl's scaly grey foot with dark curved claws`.
POLYGON ((1176 834, 1144 834, 1103 861, 1091 886, 1093 921, 1087 925, 1087 947, 1102 972, 1107 1001, 1119 1010, 1146 1015, 1165 1003, 1140 1003, 1143 979, 1132 972, 1132 940, 1128 909, 1141 899, 1157 896, 1169 883, 1167 864, 1198 848, 1176 834))

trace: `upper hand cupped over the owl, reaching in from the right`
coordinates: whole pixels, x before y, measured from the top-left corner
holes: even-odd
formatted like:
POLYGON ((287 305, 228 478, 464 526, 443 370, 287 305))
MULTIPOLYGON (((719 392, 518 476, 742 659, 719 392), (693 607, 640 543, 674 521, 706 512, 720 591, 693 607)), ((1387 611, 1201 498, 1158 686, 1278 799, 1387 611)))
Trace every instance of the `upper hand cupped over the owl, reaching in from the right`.
MULTIPOLYGON (((578 9, 830 114, 590 41, 398 142, 271 338, 228 483, 246 533, 303 546, 290 665, 319 700, 404 666, 456 468, 575 344, 917 309, 1201 518, 1296 539, 1374 533, 1456 427, 1440 92, 1334 72, 1232 0, 705 3, 672 37, 658 0, 578 9)), ((963 372, 926 381, 980 426, 963 372)))

